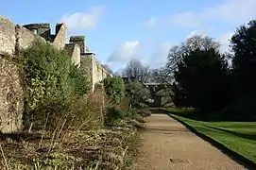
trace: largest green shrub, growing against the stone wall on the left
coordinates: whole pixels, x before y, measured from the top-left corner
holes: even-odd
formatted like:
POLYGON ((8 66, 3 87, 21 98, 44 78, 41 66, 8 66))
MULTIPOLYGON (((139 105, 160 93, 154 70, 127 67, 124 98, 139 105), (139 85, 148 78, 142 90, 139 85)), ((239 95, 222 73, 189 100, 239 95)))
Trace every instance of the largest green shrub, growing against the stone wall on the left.
POLYGON ((84 73, 71 64, 65 51, 38 41, 20 55, 25 71, 25 127, 43 124, 46 114, 58 112, 72 98, 87 93, 84 73))

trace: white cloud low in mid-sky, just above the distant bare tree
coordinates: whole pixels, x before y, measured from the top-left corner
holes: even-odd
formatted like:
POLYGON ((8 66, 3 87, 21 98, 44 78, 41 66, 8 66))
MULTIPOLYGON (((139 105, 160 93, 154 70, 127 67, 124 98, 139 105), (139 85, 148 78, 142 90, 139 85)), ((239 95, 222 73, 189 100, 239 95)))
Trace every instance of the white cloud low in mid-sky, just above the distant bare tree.
POLYGON ((126 63, 128 60, 138 57, 141 53, 141 42, 138 40, 132 42, 124 42, 121 44, 107 59, 111 64, 126 63))

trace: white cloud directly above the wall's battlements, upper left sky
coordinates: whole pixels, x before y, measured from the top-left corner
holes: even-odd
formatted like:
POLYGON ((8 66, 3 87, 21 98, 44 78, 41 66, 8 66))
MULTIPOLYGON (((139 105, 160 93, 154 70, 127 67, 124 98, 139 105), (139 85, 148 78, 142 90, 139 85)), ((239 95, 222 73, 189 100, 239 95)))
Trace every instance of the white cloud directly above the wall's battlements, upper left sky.
POLYGON ((93 29, 97 26, 103 15, 104 7, 94 6, 86 12, 76 12, 65 14, 60 21, 64 23, 70 31, 81 31, 85 29, 93 29))

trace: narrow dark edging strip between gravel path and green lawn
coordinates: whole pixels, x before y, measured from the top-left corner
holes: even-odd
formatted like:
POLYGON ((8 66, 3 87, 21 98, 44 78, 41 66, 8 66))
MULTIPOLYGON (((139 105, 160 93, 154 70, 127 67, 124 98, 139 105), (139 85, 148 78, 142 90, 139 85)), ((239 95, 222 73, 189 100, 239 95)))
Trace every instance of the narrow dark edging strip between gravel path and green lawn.
MULTIPOLYGON (((164 110, 164 109, 159 109, 159 110, 164 110)), ((220 151, 222 151, 224 154, 228 155, 231 159, 233 159, 234 161, 244 165, 247 169, 249 170, 256 170, 256 163, 253 161, 248 160, 246 157, 244 157, 243 155, 231 150, 230 148, 228 148, 227 146, 225 146, 224 144, 221 144, 219 142, 217 142, 216 140, 214 140, 213 138, 207 136, 206 134, 203 134, 199 131, 196 130, 196 128, 190 126, 189 124, 183 122, 182 120, 180 120, 179 118, 173 116, 168 110, 164 110, 166 112, 166 114, 168 116, 170 116, 171 118, 175 119, 176 121, 178 121, 180 124, 182 124, 184 127, 187 127, 191 132, 195 133, 196 136, 198 136, 199 138, 203 139, 204 141, 212 144, 214 147, 216 147, 217 149, 219 149, 220 151)))

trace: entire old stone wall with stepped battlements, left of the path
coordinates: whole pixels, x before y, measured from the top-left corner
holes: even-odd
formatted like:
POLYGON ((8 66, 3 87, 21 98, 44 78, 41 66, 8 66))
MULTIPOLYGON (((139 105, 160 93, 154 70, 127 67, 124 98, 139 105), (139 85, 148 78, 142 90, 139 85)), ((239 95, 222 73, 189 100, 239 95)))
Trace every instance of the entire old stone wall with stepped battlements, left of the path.
POLYGON ((56 35, 50 34, 49 24, 15 25, 9 19, 0 16, 0 131, 14 132, 22 128, 23 86, 22 70, 19 69, 16 54, 27 48, 31 42, 39 39, 52 42, 58 49, 64 47, 70 51, 72 62, 81 64, 80 68, 88 73, 92 91, 96 83, 111 74, 95 59, 88 50, 84 36, 75 36, 71 44, 65 44, 67 31, 62 24, 56 26, 56 35), (42 37, 41 37, 42 36, 42 37))

